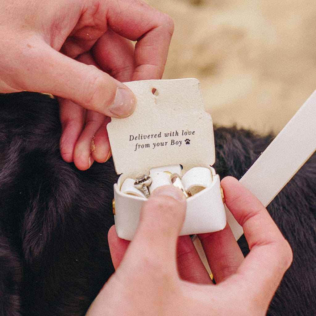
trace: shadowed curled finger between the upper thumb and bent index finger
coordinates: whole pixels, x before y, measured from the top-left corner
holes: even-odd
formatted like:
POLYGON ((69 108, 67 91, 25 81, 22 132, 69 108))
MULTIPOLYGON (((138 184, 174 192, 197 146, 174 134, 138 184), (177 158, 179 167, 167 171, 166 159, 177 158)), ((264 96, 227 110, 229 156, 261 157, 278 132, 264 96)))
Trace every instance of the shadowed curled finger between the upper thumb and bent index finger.
POLYGON ((134 46, 109 29, 94 45, 93 55, 100 68, 120 82, 132 80, 134 46))

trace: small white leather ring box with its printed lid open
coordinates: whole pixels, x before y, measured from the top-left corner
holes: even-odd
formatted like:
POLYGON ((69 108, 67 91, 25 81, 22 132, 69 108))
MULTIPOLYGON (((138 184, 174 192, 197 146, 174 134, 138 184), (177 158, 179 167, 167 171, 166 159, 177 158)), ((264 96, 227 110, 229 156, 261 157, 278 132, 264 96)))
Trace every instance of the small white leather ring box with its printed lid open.
POLYGON ((125 84, 136 96, 136 109, 130 117, 112 118, 107 125, 115 170, 121 174, 114 184, 118 236, 131 240, 135 234, 147 198, 133 181, 144 174, 152 178, 149 192, 160 185, 171 185, 170 174, 179 175, 176 181, 185 191, 199 188, 187 197, 180 235, 222 230, 226 212, 220 179, 211 167, 215 162, 213 124, 204 110, 198 80, 125 84))

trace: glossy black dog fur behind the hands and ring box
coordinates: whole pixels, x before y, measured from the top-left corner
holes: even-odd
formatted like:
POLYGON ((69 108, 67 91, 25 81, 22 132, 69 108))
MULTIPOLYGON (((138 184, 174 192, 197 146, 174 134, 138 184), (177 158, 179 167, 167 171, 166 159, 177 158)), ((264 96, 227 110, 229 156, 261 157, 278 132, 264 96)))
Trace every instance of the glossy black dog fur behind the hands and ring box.
MULTIPOLYGON (((62 160, 60 134, 55 99, 0 94, 1 316, 84 315, 114 271, 112 160, 79 171, 62 160)), ((215 139, 217 173, 239 179, 272 136, 216 128, 215 139)), ((313 155, 268 207, 294 252, 268 315, 316 314, 315 187, 313 155)))

